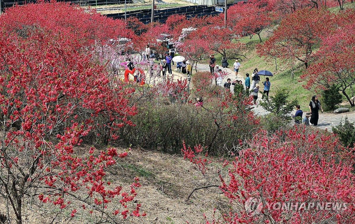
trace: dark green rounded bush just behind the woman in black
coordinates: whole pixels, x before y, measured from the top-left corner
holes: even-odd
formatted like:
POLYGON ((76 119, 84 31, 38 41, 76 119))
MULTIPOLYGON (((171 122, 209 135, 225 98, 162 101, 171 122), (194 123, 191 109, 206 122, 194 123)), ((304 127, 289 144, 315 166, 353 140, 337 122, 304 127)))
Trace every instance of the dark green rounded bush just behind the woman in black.
POLYGON ((331 85, 327 90, 322 93, 321 101, 326 110, 335 110, 337 105, 343 101, 342 94, 339 93, 340 88, 337 85, 331 85))

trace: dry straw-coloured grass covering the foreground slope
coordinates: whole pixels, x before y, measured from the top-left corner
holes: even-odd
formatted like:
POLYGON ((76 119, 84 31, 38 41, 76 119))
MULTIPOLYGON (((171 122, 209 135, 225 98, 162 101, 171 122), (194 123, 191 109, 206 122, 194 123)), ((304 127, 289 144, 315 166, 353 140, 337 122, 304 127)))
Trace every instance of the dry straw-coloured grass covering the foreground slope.
MULTIPOLYGON (((86 147, 78 147, 76 153, 86 154, 86 147)), ((124 151, 124 149, 119 150, 124 151)), ((181 155, 170 155, 157 151, 132 149, 129 156, 107 170, 107 180, 112 187, 124 186, 123 190, 132 183, 134 177, 140 178, 142 187, 138 189, 136 200, 142 203, 141 211, 146 217, 130 218, 123 223, 130 224, 191 224, 201 223, 203 213, 212 216, 213 208, 227 211, 226 198, 216 187, 195 191, 188 202, 185 198, 197 186, 207 185, 200 171, 190 162, 184 161, 181 155)), ((5 213, 5 201, 0 201, 0 211, 5 213)), ((23 209, 24 224, 50 223, 54 207, 50 204, 45 210, 30 206, 23 209)), ((70 212, 62 214, 54 223, 68 223, 70 212)), ((14 221, 14 220, 13 220, 14 221)), ((89 217, 70 220, 69 223, 92 223, 89 217)))

